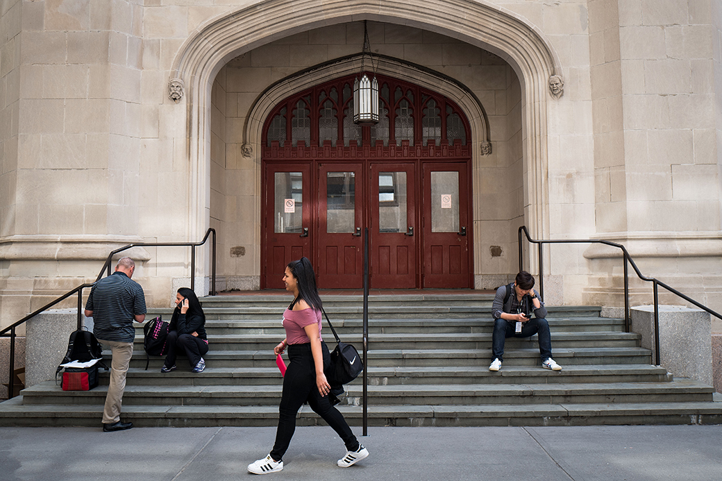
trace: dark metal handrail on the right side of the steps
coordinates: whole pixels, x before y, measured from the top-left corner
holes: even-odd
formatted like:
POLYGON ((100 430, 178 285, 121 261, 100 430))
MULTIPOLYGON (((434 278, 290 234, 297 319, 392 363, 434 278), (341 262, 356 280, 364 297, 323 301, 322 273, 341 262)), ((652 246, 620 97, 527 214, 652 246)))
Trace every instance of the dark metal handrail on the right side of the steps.
POLYGON ((713 311, 712 309, 708 308, 707 306, 704 306, 703 304, 698 303, 696 300, 688 297, 687 295, 684 295, 679 292, 679 290, 674 289, 674 287, 670 287, 669 285, 666 285, 664 282, 661 282, 661 280, 657 280, 654 277, 646 277, 642 274, 642 272, 637 267, 637 264, 635 264, 634 259, 632 259, 632 256, 630 256, 629 252, 627 252, 627 248, 625 246, 622 246, 622 244, 618 244, 615 242, 610 241, 602 241, 600 239, 559 239, 559 240, 535 240, 532 239, 529 235, 529 230, 526 230, 526 225, 522 225, 519 228, 519 271, 523 271, 523 252, 522 252, 522 246, 521 246, 521 233, 524 233, 526 235, 526 240, 529 241, 529 243, 534 243, 537 245, 538 251, 539 251, 539 295, 541 296, 541 299, 544 300, 544 252, 542 249, 542 246, 544 244, 563 244, 563 243, 598 243, 598 244, 604 244, 605 246, 612 246, 621 249, 622 256, 624 257, 624 267, 625 267, 625 330, 626 332, 630 332, 630 288, 629 288, 629 274, 627 269, 627 262, 629 264, 632 264, 632 269, 637 273, 637 277, 639 277, 641 280, 646 282, 652 282, 653 286, 653 294, 654 294, 654 355, 656 360, 656 365, 660 365, 659 363, 659 286, 664 287, 666 290, 668 290, 670 293, 678 295, 680 298, 686 300, 689 303, 694 304, 700 309, 703 309, 704 311, 707 311, 711 315, 715 316, 718 319, 722 319, 722 314, 717 313, 716 311, 713 311))

